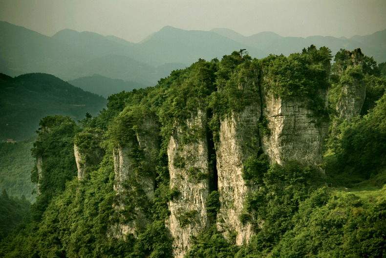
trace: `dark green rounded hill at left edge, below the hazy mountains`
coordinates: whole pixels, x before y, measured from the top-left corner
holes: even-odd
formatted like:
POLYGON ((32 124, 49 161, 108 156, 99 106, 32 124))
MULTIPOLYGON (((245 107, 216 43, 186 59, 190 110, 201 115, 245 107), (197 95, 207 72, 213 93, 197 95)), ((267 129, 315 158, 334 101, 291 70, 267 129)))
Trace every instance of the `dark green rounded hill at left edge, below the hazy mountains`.
POLYGON ((15 78, 0 77, 0 140, 26 140, 34 136, 39 120, 48 115, 73 119, 86 112, 98 114, 106 99, 53 76, 29 73, 15 78))

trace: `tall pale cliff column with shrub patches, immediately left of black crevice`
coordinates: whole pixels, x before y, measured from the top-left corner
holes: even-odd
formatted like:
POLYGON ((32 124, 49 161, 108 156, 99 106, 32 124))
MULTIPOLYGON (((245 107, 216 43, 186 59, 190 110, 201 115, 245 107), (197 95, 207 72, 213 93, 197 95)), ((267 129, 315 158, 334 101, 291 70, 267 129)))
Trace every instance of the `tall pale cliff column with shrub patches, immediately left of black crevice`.
POLYGON ((174 257, 182 258, 191 245, 191 237, 208 225, 205 202, 209 194, 208 145, 205 136, 206 114, 197 114, 177 125, 168 145, 170 188, 179 196, 169 202, 167 227, 173 241, 174 257), (189 138, 189 139, 187 139, 189 138))

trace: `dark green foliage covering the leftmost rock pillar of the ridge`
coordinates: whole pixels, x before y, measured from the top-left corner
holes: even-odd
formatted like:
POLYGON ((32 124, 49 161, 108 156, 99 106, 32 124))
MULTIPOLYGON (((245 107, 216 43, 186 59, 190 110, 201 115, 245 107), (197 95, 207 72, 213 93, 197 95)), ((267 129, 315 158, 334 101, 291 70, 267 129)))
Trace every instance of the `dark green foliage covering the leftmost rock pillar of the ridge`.
POLYGON ((39 184, 41 192, 32 206, 35 219, 39 219, 50 200, 64 190, 65 182, 76 175, 73 137, 79 130, 70 117, 62 116, 44 117, 39 125, 32 155, 42 162, 37 161, 31 172, 31 180, 39 184))

